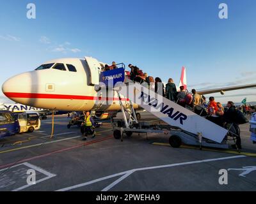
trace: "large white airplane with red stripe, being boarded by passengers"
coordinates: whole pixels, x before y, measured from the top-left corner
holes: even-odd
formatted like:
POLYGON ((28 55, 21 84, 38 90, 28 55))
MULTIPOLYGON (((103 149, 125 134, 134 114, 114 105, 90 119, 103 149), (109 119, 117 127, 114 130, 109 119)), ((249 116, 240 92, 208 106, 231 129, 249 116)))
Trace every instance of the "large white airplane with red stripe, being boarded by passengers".
MULTIPOLYGON (((106 63, 93 57, 63 58, 44 62, 33 71, 16 75, 4 82, 2 91, 12 101, 48 110, 93 111, 97 119, 115 117, 129 99, 121 96, 121 102, 113 89, 99 89, 100 75, 106 63)), ((113 78, 122 75, 113 75, 113 78)), ((109 78, 109 77, 106 77, 109 78)), ((103 77, 105 79, 105 77, 103 77)), ((180 84, 186 85, 186 69, 182 68, 180 84)), ((200 94, 232 91, 256 87, 256 84, 240 85, 198 91, 200 94)), ((132 103, 135 110, 139 106, 132 103)))

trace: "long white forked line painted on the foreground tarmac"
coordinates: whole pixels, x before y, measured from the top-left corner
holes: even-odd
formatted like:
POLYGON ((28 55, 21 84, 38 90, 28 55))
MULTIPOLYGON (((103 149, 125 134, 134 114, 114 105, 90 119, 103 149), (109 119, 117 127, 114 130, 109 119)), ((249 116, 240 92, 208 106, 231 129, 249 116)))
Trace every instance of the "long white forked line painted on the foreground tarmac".
POLYGON ((83 184, 77 184, 75 186, 65 187, 65 188, 59 189, 57 191, 70 191, 72 189, 77 189, 79 187, 88 186, 90 184, 95 184, 97 182, 101 182, 102 180, 107 180, 107 179, 111 179, 113 177, 122 176, 119 179, 115 180, 113 183, 109 184, 107 187, 104 187, 104 189, 102 189, 102 191, 109 191, 109 189, 113 188, 118 183, 120 183, 122 180, 126 179, 127 177, 129 177, 129 175, 131 175, 132 173, 134 173, 136 171, 154 170, 154 169, 159 169, 159 168, 170 168, 170 167, 175 167, 175 166, 207 163, 207 162, 211 162, 211 161, 223 161, 223 160, 227 160, 227 159, 237 159, 237 158, 242 158, 242 157, 246 157, 246 156, 241 155, 241 156, 232 156, 232 157, 220 157, 220 158, 215 158, 215 159, 203 159, 203 160, 197 160, 197 161, 188 161, 188 162, 184 162, 184 163, 166 164, 166 165, 161 165, 161 166, 149 166, 149 167, 145 167, 145 168, 136 168, 133 170, 127 170, 127 171, 123 171, 120 173, 115 173, 113 175, 108 175, 106 177, 102 177, 99 179, 84 182, 83 184))

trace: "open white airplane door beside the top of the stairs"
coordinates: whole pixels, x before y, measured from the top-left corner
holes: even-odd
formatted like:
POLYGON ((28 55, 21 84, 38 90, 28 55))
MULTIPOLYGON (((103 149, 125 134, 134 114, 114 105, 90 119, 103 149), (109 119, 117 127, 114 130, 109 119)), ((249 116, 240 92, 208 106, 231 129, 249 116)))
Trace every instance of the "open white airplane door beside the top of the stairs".
POLYGON ((89 67, 89 84, 98 85, 100 78, 100 63, 92 57, 84 57, 89 67))

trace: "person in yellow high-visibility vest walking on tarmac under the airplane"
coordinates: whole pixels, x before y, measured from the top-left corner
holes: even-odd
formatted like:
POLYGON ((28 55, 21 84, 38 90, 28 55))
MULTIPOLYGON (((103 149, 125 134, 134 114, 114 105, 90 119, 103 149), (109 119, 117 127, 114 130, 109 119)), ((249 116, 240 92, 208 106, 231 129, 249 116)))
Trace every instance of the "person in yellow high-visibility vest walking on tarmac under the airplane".
POLYGON ((90 112, 84 114, 84 122, 81 124, 81 133, 83 134, 83 140, 87 140, 88 135, 95 137, 94 121, 90 115, 90 112))

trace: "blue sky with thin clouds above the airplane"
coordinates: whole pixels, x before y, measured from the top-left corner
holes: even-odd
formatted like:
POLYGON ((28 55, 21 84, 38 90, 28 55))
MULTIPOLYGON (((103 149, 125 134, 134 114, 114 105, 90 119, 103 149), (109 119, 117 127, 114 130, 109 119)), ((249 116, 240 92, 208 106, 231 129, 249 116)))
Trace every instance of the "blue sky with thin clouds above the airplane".
MULTIPOLYGON (((256 83, 255 19, 254 0, 1 1, 0 85, 44 61, 85 55, 136 64, 164 82, 178 83, 186 66, 190 89, 256 83), (36 19, 26 18, 28 3, 36 19), (220 3, 228 19, 218 18, 220 3)), ((255 91, 213 96, 256 101, 255 91)))

